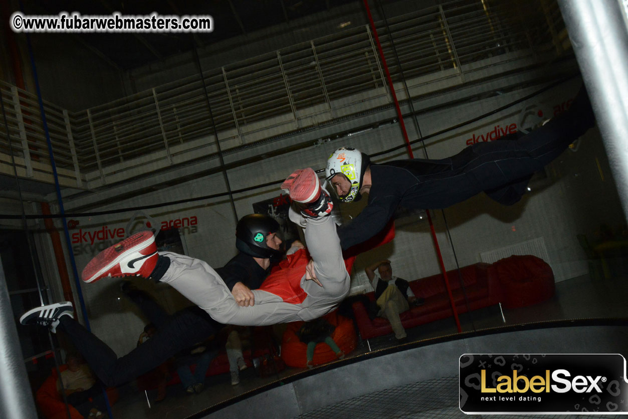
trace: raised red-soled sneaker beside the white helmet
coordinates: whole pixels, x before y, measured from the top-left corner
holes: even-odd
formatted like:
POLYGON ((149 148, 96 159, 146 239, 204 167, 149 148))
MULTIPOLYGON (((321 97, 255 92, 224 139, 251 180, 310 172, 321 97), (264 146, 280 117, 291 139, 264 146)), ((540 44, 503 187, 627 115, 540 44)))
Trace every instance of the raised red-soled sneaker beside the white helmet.
POLYGON ((333 202, 327 191, 320 187, 318 176, 310 167, 292 172, 281 184, 281 189, 301 204, 303 216, 320 218, 332 212, 333 202))

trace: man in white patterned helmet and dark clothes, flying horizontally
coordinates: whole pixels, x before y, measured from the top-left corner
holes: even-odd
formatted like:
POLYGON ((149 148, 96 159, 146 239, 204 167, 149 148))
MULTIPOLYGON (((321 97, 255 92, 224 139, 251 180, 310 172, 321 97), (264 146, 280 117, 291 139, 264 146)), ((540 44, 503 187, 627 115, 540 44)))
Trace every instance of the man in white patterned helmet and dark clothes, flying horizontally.
POLYGON ((526 192, 534 172, 558 157, 595 124, 584 87, 568 111, 527 135, 516 133, 481 142, 440 160, 406 159, 373 164, 352 147, 335 150, 325 177, 345 203, 369 194, 368 205, 350 223, 338 227, 342 249, 371 238, 386 226, 398 206, 447 208, 484 191, 511 205, 526 192))

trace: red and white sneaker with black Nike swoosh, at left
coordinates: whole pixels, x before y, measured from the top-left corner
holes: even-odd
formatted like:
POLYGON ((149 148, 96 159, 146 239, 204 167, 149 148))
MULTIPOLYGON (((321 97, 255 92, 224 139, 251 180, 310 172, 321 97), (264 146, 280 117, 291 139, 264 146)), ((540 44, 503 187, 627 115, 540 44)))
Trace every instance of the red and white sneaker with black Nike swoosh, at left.
POLYGON ((85 282, 106 276, 151 276, 159 254, 153 232, 148 230, 127 237, 97 254, 83 269, 85 282))

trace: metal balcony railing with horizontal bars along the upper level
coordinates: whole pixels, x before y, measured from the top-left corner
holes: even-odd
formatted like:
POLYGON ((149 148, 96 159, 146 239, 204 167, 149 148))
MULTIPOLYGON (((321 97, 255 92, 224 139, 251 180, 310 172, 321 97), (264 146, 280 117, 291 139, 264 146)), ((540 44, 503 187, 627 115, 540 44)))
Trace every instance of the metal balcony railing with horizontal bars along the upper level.
MULTIPOLYGON (((488 3, 452 0, 391 18, 387 27, 379 22, 393 80, 401 77, 391 37, 410 88, 444 71, 463 77, 465 65, 487 59, 494 65, 513 52, 561 53, 564 25, 555 2, 488 3)), ((372 101, 374 108, 391 101, 368 25, 207 70, 203 78, 224 150, 311 125, 313 116, 333 119, 335 111, 353 104, 372 101)), ((62 184, 104 184, 138 159, 173 164, 209 153, 214 131, 202 88, 200 76, 192 76, 75 113, 45 103, 62 184)), ((6 83, 0 92, 20 176, 36 177, 49 164, 36 97, 6 83)), ((6 172, 6 144, 0 153, 0 170, 6 172)))

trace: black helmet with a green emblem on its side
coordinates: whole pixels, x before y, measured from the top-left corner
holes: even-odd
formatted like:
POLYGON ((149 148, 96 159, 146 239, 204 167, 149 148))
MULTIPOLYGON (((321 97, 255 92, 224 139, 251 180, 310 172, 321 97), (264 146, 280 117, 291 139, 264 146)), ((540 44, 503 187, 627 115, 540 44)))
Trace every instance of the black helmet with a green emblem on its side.
POLYGON ((264 259, 279 256, 283 253, 266 245, 266 236, 276 233, 279 223, 271 216, 249 214, 243 216, 236 226, 236 247, 242 253, 264 259))

